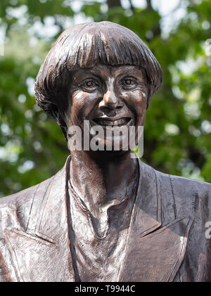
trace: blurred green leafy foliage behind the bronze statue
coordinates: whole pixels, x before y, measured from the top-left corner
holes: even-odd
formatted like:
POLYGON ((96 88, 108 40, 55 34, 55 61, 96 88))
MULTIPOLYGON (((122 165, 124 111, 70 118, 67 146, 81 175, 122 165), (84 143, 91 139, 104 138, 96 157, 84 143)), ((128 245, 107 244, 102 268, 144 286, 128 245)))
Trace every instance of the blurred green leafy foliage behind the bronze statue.
MULTIPOLYGON (((56 123, 34 104, 33 83, 53 41, 76 15, 129 27, 148 44, 163 70, 162 88, 147 112, 143 160, 162 172, 211 182, 210 0, 179 1, 186 14, 169 34, 151 1, 124 8, 120 0, 2 0, 0 29, 0 196, 55 174, 68 156, 56 123), (46 31, 46 27, 49 31, 46 31), (0 39, 1 43, 1 39, 0 39)), ((173 12, 172 12, 173 13, 173 12)), ((87 18, 87 19, 86 19, 87 18)))

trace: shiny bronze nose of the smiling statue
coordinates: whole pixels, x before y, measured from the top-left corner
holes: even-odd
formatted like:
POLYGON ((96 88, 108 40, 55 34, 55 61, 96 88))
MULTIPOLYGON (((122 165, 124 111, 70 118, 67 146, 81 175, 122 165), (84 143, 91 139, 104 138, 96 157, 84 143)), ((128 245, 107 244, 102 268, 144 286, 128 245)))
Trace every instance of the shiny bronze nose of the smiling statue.
POLYGON ((108 90, 103 95, 103 100, 99 103, 99 108, 106 115, 115 116, 116 109, 122 108, 122 103, 117 98, 115 91, 108 90))

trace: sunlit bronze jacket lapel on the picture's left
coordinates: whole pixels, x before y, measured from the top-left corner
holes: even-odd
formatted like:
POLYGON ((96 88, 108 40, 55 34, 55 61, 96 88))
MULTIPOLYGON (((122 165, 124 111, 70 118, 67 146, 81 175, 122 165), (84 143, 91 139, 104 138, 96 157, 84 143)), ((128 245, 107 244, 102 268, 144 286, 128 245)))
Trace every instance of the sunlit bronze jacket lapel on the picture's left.
POLYGON ((70 158, 46 188, 37 188, 27 231, 5 231, 18 281, 75 281, 65 190, 69 163, 70 158))

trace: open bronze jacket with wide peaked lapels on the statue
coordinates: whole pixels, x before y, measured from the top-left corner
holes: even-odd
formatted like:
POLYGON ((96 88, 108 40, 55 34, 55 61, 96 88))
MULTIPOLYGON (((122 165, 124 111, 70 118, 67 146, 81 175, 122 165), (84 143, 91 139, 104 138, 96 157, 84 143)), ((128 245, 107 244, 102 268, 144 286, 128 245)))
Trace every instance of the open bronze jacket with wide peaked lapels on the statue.
MULTIPOLYGON (((0 281, 75 281, 68 178, 0 199, 0 281)), ((118 281, 211 281, 211 184, 139 160, 139 186, 118 281)))

